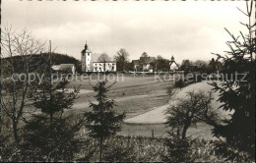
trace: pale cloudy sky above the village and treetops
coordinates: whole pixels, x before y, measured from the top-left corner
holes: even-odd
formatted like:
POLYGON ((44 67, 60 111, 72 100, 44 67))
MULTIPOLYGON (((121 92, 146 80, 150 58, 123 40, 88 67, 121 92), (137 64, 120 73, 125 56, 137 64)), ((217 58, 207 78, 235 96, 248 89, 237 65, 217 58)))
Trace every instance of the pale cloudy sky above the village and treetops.
MULTIPOLYGON (((29 30, 55 52, 81 59, 85 43, 93 53, 113 57, 126 49, 130 61, 143 52, 177 63, 211 60, 228 50, 225 41, 244 31, 244 1, 2 1, 2 25, 29 30)), ((246 30, 245 30, 246 31, 246 30)))

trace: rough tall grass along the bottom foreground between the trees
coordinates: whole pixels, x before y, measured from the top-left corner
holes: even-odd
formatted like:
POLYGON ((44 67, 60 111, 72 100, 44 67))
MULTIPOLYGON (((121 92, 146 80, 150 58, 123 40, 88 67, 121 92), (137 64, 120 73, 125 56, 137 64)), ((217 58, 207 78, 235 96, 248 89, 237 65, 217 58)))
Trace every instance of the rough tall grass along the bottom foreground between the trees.
MULTIPOLYGON (((86 139, 85 136, 82 137, 86 139)), ((164 141, 165 138, 161 137, 112 136, 106 139, 104 143, 103 161, 162 161, 162 156, 168 155, 164 141)), ((192 157, 196 159, 196 162, 224 161, 215 154, 213 140, 196 139, 190 145, 193 153, 192 157)), ((98 153, 96 140, 90 139, 87 145, 83 147, 81 153, 77 155, 77 158, 80 161, 98 161, 98 153), (90 157, 86 157, 89 155, 90 157)))

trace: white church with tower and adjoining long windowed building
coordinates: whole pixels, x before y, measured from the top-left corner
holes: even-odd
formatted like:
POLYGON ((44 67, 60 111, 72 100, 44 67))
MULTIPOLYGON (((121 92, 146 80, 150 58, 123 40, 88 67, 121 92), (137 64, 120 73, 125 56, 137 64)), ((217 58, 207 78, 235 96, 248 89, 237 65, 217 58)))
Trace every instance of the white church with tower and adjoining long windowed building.
POLYGON ((115 62, 94 62, 92 51, 86 43, 85 49, 81 52, 82 72, 116 72, 115 62))

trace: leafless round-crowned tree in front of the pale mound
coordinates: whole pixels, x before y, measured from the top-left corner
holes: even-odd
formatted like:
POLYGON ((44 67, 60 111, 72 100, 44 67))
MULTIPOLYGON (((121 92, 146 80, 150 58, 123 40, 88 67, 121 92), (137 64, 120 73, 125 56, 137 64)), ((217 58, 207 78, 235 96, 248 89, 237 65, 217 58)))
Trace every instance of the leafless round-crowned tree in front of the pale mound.
POLYGON ((205 94, 203 91, 189 91, 186 98, 179 99, 176 105, 172 105, 166 111, 168 115, 167 124, 181 139, 186 138, 188 128, 196 127, 198 122, 213 124, 217 119, 216 113, 211 107, 212 94, 205 94))

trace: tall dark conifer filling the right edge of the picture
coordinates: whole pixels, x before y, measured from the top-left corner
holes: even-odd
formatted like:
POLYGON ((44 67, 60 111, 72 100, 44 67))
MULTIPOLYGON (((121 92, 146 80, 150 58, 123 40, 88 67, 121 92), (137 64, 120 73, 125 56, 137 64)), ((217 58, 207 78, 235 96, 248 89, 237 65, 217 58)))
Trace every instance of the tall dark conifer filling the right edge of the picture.
POLYGON ((216 55, 223 61, 223 73, 227 78, 221 84, 211 83, 215 91, 220 91, 219 101, 224 103, 220 109, 233 112, 230 119, 214 128, 215 136, 224 137, 224 143, 217 145, 217 152, 226 160, 237 162, 255 158, 256 24, 253 23, 253 3, 246 2, 246 12, 239 9, 248 18, 248 24, 241 23, 248 29, 247 34, 240 31, 236 37, 225 28, 232 38, 226 42, 230 51, 224 56, 216 55), (231 76, 236 79, 230 80, 231 76))

